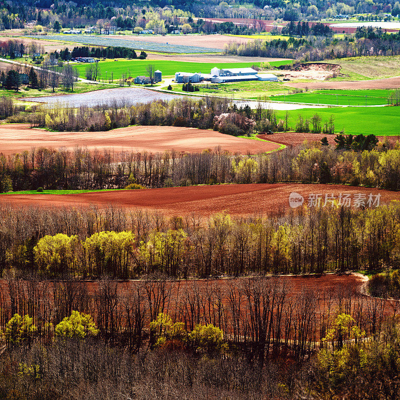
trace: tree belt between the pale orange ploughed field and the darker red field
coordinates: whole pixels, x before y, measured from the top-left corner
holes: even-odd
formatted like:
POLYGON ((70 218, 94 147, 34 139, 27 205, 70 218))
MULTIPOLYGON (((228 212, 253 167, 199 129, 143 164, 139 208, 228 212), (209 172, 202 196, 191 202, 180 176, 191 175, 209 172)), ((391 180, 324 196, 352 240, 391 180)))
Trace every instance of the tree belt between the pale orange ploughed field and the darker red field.
MULTIPOLYGON (((0 115, 13 112, 15 110, 9 102, 0 102, 0 115)), ((229 126, 231 122, 224 121, 223 129, 229 126)), ((400 189, 398 145, 379 142, 368 150, 362 146, 370 146, 369 139, 351 145, 348 145, 348 139, 339 135, 336 140, 336 148, 322 141, 255 156, 229 154, 220 148, 204 149, 194 154, 173 150, 152 154, 111 149, 32 148, 7 157, 0 155, 0 190, 35 190, 38 187, 121 189, 130 184, 161 188, 279 182, 400 189)))

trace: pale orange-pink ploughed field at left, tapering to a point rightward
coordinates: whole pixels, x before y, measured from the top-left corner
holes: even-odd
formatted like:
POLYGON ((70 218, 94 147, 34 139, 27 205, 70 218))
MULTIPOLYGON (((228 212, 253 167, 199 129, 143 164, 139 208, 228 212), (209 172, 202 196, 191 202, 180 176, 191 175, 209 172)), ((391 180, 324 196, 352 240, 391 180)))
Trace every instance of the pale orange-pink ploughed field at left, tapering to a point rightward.
POLYGON ((0 125, 0 153, 10 155, 32 147, 76 146, 89 150, 113 148, 150 153, 175 150, 196 153, 220 146, 231 153, 256 154, 276 150, 280 145, 223 135, 211 130, 160 126, 134 126, 106 132, 48 132, 32 129, 28 124, 0 125))

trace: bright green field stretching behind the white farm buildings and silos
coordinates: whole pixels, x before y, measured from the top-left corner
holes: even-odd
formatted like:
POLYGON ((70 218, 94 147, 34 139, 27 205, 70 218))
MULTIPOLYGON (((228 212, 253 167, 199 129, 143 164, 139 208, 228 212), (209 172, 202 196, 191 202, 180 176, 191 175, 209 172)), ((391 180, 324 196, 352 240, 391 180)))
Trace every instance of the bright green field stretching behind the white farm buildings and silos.
MULTIPOLYGON (((291 60, 285 61, 274 61, 269 63, 272 67, 279 65, 285 65, 291 63, 291 60)), ((105 79, 105 73, 107 73, 107 80, 113 73, 113 79, 119 79, 122 74, 126 76, 136 77, 138 75, 148 75, 146 73, 146 66, 153 64, 156 69, 162 72, 162 76, 173 76, 175 72, 202 72, 209 74, 211 68, 245 68, 252 67, 253 65, 259 66, 259 63, 191 63, 184 61, 164 61, 164 60, 123 60, 118 61, 99 61, 98 66, 100 67, 100 78, 105 79)), ((80 77, 85 77, 85 71, 89 64, 77 64, 75 67, 79 71, 80 77)))

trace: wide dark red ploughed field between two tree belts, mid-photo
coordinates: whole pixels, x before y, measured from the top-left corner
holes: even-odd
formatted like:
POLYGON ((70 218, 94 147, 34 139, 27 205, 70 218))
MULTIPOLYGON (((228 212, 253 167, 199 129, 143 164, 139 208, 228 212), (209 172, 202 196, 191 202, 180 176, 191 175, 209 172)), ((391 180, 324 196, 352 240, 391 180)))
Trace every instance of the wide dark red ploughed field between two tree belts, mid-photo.
MULTIPOLYGON (((127 209, 159 211, 167 216, 191 214, 209 216, 225 211, 234 216, 263 215, 269 212, 287 212, 289 195, 299 193, 307 204, 310 194, 320 194, 322 204, 325 194, 357 193, 366 197, 380 194, 380 204, 400 200, 400 192, 344 185, 319 184, 232 184, 214 186, 188 186, 145 190, 118 190, 80 194, 12 194, 0 195, 0 203, 11 206, 90 206, 105 207, 108 204, 127 209)), ((327 203, 329 207, 331 203, 327 203)), ((353 204, 353 203, 352 203, 353 204)))

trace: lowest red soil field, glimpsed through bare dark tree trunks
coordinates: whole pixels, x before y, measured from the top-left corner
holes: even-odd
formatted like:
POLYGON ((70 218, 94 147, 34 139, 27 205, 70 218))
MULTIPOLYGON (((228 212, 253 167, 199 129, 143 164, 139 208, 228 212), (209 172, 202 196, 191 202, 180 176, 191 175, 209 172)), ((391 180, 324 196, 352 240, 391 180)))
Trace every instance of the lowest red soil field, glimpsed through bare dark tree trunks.
MULTIPOLYGON (((237 292, 242 284, 248 282, 247 277, 244 278, 219 278, 219 279, 189 279, 180 281, 166 282, 165 293, 169 292, 165 301, 163 312, 170 316, 176 315, 183 321, 183 317, 190 318, 190 315, 198 313, 200 323, 208 319, 209 311, 207 310, 207 301, 215 301, 211 313, 216 311, 217 304, 220 304, 218 309, 224 309, 224 330, 228 334, 232 334, 232 315, 229 306, 229 291, 232 288, 233 292, 237 292), (209 296, 209 297, 208 297, 209 296), (193 308, 188 303, 192 302, 193 308), (198 302, 197 302, 198 301, 198 302), (219 303, 220 301, 220 303, 219 303), (204 307, 204 308, 203 308, 204 307)), ((379 315, 379 307, 382 308, 382 316, 391 316, 394 312, 398 313, 398 302, 388 300, 381 303, 380 300, 364 294, 364 285, 367 281, 365 276, 360 274, 322 274, 322 275, 280 275, 277 277, 266 277, 267 280, 277 279, 279 286, 285 285, 287 290, 287 298, 299 298, 301 294, 309 292, 312 296, 313 312, 315 313, 314 332, 316 340, 319 340, 319 326, 321 317, 327 318, 327 312, 332 320, 339 311, 339 301, 341 301, 342 312, 348 312, 354 317, 362 318, 362 324, 368 326, 372 313, 377 311, 379 315), (348 294, 351 294, 351 303, 348 301, 348 294), (339 300, 340 299, 340 300, 339 300), (362 314, 361 314, 362 312, 362 314), (361 316, 362 315, 362 316, 361 316)), ((130 298, 130 295, 135 295, 136 288, 143 282, 140 280, 116 281, 116 290, 112 290, 119 298, 130 298)), ((52 285, 54 282, 49 282, 47 287, 46 300, 53 303, 52 285)), ((81 281, 81 284, 87 288, 87 293, 90 297, 94 297, 99 291, 101 283, 99 281, 81 281)), ((154 295, 156 296, 157 287, 154 286, 154 295)), ((0 290, 2 298, 9 302, 9 287, 6 280, 0 280, 0 290)), ((139 291, 143 288, 139 287, 139 291)), ((236 300, 237 301, 237 298, 236 300)), ((119 302, 121 303, 121 302, 119 302)), ((236 303, 237 304, 237 303, 236 303)), ((51 307, 51 306, 50 306, 51 307)), ((53 307, 53 305, 52 305, 53 307)), ((240 302, 240 309, 243 316, 248 312, 248 304, 243 297, 240 302)), ((287 302, 285 304, 287 307, 287 302)), ((296 309, 294 308, 294 313, 296 309)), ((96 310, 92 313, 96 317, 96 310)), ((148 313, 146 315, 145 326, 148 326, 148 313)), ((187 326, 186 326, 187 327, 187 326)), ((309 332, 310 333, 310 332, 309 332)))

